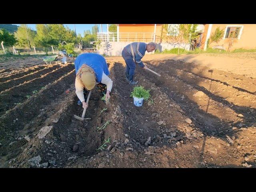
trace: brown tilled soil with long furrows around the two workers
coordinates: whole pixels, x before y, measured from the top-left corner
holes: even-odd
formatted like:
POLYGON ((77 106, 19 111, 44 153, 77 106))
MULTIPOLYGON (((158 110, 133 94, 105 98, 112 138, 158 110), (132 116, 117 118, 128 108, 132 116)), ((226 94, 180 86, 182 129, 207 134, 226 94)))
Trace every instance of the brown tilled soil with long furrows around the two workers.
POLYGON ((179 60, 145 63, 162 75, 136 68, 152 99, 134 106, 124 61, 109 59, 110 103, 94 89, 84 122, 73 117, 82 115, 74 65, 3 71, 0 80, 12 78, 0 82, 1 167, 256 167, 254 78, 179 60))

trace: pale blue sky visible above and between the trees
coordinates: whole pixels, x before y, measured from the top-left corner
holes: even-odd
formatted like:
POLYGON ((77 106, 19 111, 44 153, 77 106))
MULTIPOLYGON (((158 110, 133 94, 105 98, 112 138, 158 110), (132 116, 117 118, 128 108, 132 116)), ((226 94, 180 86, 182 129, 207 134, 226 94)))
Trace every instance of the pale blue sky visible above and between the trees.
MULTIPOLYGON (((20 24, 14 24, 20 26, 20 24)), ((27 24, 32 30, 36 30, 36 24, 27 24)), ((76 34, 80 33, 82 37, 84 36, 84 30, 90 30, 92 32, 92 26, 95 24, 76 24, 76 34)), ((64 26, 68 26, 71 30, 74 30, 74 24, 64 24, 64 26)), ((100 24, 98 24, 99 32, 100 32, 100 24)), ((102 24, 102 32, 107 32, 107 24, 102 24)))

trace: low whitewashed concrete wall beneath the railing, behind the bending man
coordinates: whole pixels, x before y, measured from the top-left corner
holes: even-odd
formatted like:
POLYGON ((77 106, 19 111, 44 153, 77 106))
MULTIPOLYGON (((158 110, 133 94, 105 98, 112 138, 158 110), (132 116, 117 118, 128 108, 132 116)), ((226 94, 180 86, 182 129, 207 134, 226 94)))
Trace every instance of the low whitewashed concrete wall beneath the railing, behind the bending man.
MULTIPOLYGON (((108 56, 121 56, 123 48, 130 43, 131 42, 102 42, 100 48, 97 49, 96 52, 98 54, 105 54, 108 56)), ((170 50, 172 48, 178 48, 178 44, 176 43, 158 43, 157 46, 160 52, 165 49, 170 50)), ((189 50, 190 44, 180 44, 180 48, 189 50)), ((150 53, 146 51, 145 54, 154 54, 154 51, 150 53)))

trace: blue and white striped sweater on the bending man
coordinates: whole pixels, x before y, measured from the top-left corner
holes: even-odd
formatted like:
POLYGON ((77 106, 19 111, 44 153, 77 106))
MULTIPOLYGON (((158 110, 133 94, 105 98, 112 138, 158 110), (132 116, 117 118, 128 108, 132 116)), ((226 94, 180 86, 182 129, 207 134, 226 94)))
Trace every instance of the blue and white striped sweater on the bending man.
POLYGON ((138 63, 141 67, 144 67, 143 62, 141 61, 146 52, 146 43, 142 42, 133 42, 124 47, 126 52, 132 56, 133 60, 138 63))

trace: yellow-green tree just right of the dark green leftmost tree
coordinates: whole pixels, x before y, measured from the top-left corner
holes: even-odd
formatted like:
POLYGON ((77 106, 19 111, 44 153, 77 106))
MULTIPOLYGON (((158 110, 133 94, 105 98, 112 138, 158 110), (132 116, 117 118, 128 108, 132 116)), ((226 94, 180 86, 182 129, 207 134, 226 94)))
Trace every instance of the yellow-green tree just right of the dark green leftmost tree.
POLYGON ((34 45, 34 38, 36 37, 36 32, 26 24, 21 24, 18 30, 14 33, 14 36, 18 40, 18 45, 23 48, 31 48, 34 45))

